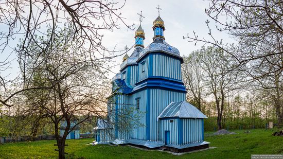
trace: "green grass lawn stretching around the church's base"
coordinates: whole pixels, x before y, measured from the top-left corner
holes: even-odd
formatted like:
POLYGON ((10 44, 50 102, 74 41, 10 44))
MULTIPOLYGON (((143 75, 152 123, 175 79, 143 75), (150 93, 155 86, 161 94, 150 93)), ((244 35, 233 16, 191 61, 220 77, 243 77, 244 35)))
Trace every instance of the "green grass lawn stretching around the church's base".
MULTIPOLYGON (((201 152, 174 156, 167 152, 145 151, 129 146, 87 145, 89 139, 67 140, 68 158, 251 158, 251 154, 283 154, 283 137, 272 136, 275 130, 256 129, 244 134, 243 130, 234 131, 236 135, 210 136, 209 149, 201 152)), ((0 145, 0 158, 56 158, 55 140, 37 142, 9 143, 0 145)))

